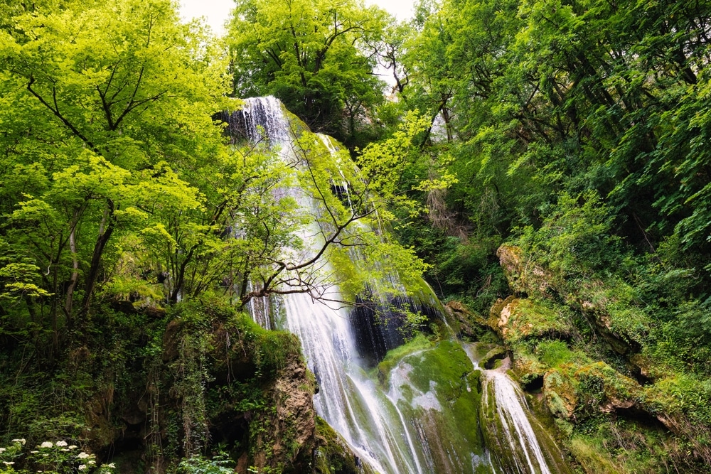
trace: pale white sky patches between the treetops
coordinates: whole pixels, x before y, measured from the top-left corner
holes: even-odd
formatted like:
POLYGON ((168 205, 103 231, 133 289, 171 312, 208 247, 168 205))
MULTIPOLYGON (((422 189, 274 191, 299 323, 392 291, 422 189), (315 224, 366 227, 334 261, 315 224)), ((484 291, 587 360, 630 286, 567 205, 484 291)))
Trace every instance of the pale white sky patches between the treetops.
MULTIPOLYGON (((366 4, 378 5, 395 15, 397 19, 404 20, 412 16, 414 0, 365 0, 366 4)), ((181 0, 181 16, 185 20, 204 16, 206 23, 213 31, 222 35, 225 33, 225 21, 230 16, 234 0, 181 0)))

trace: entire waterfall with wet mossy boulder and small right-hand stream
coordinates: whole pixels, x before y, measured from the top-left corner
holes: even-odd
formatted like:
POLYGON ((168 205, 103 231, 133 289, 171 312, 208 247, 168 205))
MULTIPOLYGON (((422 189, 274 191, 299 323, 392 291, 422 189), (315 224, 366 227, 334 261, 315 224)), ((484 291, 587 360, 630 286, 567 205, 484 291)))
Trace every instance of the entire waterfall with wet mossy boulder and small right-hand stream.
MULTIPOLYGON (((246 130, 241 133, 254 142, 266 136, 270 144, 280 150, 286 162, 298 161, 291 146, 294 134, 290 127, 293 125, 289 124, 277 99, 247 99, 240 113, 240 124, 230 122, 230 128, 244 127, 246 130)), ((333 153, 330 139, 322 136, 319 140, 333 153)), ((344 193, 345 198, 350 199, 347 195, 348 182, 343 176, 341 178, 343 184, 337 182, 337 189, 333 192, 344 193)), ((316 201, 303 190, 289 189, 285 192, 306 208, 307 213, 319 214, 316 201)), ((296 262, 323 242, 319 240, 316 223, 304 226, 300 233, 305 242, 304 249, 289 254, 289 258, 296 262)), ((335 270, 331 264, 324 262, 319 271, 328 275, 335 270)), ((293 293, 276 301, 273 298, 255 301, 252 309, 259 313, 255 314, 255 318, 269 327, 272 327, 274 320, 265 314, 266 311, 281 312, 285 316, 286 328, 299 336, 307 364, 319 384, 319 393, 314 396, 316 411, 343 436, 360 460, 381 474, 491 473, 501 470, 505 473, 551 472, 528 424, 522 406, 525 401, 506 374, 486 371, 481 397, 484 406, 490 403, 496 406, 503 428, 498 436, 505 437, 506 443, 511 446, 510 451, 523 452, 525 458, 515 458, 515 471, 508 470, 506 462, 498 463, 495 471, 488 451, 483 448, 481 430, 477 425, 479 386, 477 382, 470 382, 474 370, 479 369, 476 359, 470 354, 474 362, 472 367, 469 358, 466 355, 462 357, 466 367, 461 365, 464 368, 456 372, 459 375, 455 378, 460 379, 456 382, 460 385, 459 389, 455 389, 459 398, 456 403, 451 402, 454 408, 443 406, 449 403, 447 397, 451 397, 449 392, 452 387, 448 387, 451 384, 447 380, 434 382, 433 379, 426 379, 424 385, 420 380, 419 388, 415 389, 415 367, 436 355, 432 348, 403 358, 387 373, 387 387, 381 387, 372 375, 368 375, 368 367, 372 367, 373 361, 364 360, 362 350, 359 351, 362 348, 356 340, 358 331, 354 328, 358 321, 353 320, 348 308, 335 303, 343 300, 338 286, 324 286, 322 291, 324 301, 312 298, 308 293, 293 293), (464 375, 461 375, 463 372, 464 375), (449 392, 446 396, 440 395, 440 389, 449 392), (461 423, 461 420, 453 421, 459 415, 457 403, 468 406, 467 413, 472 413, 470 416, 473 419, 465 421, 474 429, 469 430, 467 435, 451 433, 457 431, 456 427, 460 426, 457 423, 461 423)), ((462 352, 457 343, 449 342, 447 348, 452 354, 462 352)), ((422 379, 421 374, 419 377, 422 379)))

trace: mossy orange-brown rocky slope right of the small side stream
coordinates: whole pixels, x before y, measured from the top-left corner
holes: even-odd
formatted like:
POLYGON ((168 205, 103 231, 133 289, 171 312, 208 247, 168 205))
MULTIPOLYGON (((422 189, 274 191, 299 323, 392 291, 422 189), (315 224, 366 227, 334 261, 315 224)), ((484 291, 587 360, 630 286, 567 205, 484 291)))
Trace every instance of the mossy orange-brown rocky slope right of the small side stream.
POLYGON ((498 249, 514 296, 498 300, 487 323, 521 382, 542 384, 581 469, 702 472, 711 464, 711 387, 685 363, 693 354, 680 356, 662 335, 642 286, 541 248, 498 249))

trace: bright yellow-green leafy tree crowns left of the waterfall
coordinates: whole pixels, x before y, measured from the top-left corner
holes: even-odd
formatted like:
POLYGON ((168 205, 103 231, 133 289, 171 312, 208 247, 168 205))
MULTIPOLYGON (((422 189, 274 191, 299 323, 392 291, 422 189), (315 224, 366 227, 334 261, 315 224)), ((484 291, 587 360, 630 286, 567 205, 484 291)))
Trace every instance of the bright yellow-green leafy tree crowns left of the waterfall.
POLYGON ((114 242, 134 242, 140 277, 166 254, 180 274, 219 235, 198 176, 223 153, 225 63, 169 1, 51 3, 0 32, 0 257, 42 269, 18 291, 56 336, 126 276, 114 242))

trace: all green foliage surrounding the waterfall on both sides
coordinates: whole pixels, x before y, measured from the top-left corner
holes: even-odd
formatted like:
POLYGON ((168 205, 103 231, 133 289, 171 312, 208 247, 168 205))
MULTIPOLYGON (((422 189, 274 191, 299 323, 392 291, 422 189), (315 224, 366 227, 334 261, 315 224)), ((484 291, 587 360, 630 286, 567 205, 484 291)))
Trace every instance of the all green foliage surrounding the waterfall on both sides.
POLYGON ((552 373, 547 403, 579 462, 711 460, 710 18, 702 1, 423 0, 397 24, 358 0, 239 0, 225 51, 167 0, 4 2, 5 433, 98 452, 140 402, 146 463, 220 472, 201 457, 210 420, 238 399, 230 409, 260 414, 240 443, 262 446, 264 384, 298 352, 225 301, 324 296, 328 257, 346 293, 389 267, 409 283, 424 271, 486 315, 509 293, 496 256, 508 241, 513 290, 530 300, 505 339, 525 382, 552 373), (213 116, 240 107, 230 94, 277 95, 348 151, 296 119, 299 172, 265 143, 229 143, 213 116), (348 203, 331 190, 341 181, 348 203), (274 192, 297 182, 316 211, 274 192), (308 214, 316 249, 299 237, 308 214), (240 335, 250 370, 217 389, 221 330, 240 335), (664 427, 637 436, 626 411, 600 411, 615 397, 664 427))

